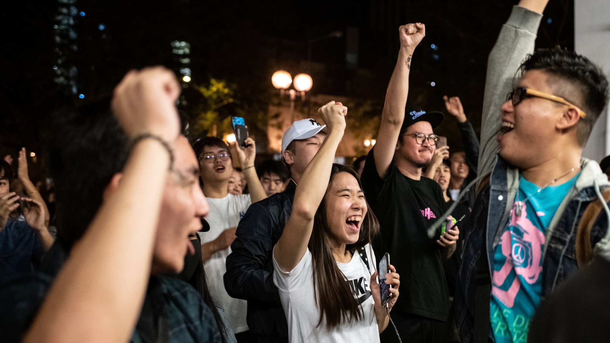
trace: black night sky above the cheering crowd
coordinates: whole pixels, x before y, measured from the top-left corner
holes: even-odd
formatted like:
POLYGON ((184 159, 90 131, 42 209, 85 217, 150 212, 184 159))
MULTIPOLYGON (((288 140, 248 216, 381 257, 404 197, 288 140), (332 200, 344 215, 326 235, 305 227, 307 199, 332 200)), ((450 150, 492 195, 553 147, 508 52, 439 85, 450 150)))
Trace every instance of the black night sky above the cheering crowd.
MULTIPOLYGON (((162 64, 176 70, 173 40, 192 46, 192 82, 181 106, 187 121, 210 106, 193 89, 209 85, 212 78, 234 87, 235 101, 219 111, 221 117, 264 116, 275 94, 271 74, 280 68, 293 76, 312 74, 312 94, 368 101, 370 109, 364 115, 375 117, 381 114, 396 62, 398 26, 416 21, 426 24, 426 38, 415 52, 409 101, 444 111, 443 95, 461 96, 478 129, 487 54, 515 2, 77 1, 74 6, 85 15, 77 16, 78 50, 70 59, 78 68, 78 93, 84 99, 63 94, 53 82, 53 26, 59 2, 10 2, 1 20, 0 154, 15 156, 21 146, 43 151, 41 137, 53 110, 109 93, 131 68, 162 64), (337 30, 343 37, 312 44, 312 62, 322 65, 323 72, 307 70, 307 40, 337 30), (346 63, 348 31, 350 37, 356 32, 359 43, 355 67, 346 63)), ((537 46, 554 45, 573 48, 573 1, 551 0, 545 11, 537 46)), ((438 133, 447 135, 450 145, 459 145, 452 120, 446 120, 438 133)))

